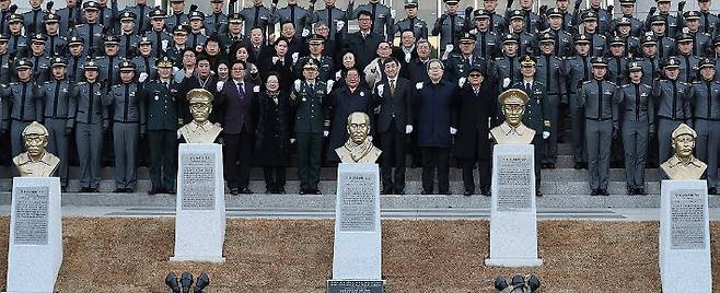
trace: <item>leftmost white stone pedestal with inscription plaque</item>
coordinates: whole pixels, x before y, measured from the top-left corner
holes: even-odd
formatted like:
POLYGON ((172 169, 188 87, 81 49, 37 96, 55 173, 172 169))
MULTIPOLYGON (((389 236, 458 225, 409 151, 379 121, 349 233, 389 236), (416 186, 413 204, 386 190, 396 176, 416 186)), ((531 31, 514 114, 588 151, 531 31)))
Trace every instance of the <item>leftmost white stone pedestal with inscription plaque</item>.
POLYGON ((7 292, 53 293, 61 265, 60 178, 13 178, 7 292))

